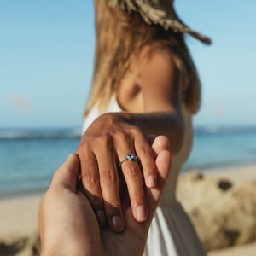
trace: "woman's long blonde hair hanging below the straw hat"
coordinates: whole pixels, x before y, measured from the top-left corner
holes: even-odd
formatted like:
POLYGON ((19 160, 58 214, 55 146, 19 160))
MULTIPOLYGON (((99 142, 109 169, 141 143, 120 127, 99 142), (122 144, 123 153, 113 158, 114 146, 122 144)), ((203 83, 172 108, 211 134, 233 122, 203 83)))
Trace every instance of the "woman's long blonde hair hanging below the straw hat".
POLYGON ((97 103, 100 111, 116 90, 131 61, 146 44, 169 49, 183 76, 183 103, 196 113, 201 102, 201 83, 183 34, 148 25, 137 13, 113 9, 106 1, 95 0, 96 53, 90 96, 84 116, 97 103))

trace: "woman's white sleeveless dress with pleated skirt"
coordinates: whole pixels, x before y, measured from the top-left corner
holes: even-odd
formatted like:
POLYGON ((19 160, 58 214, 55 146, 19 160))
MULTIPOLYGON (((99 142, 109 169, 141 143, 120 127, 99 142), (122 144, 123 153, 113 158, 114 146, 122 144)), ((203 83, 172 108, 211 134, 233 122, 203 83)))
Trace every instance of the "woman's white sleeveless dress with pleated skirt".
MULTIPOLYGON (((109 102, 107 112, 121 112, 116 97, 109 102)), ((84 119, 83 133, 99 116, 96 106, 84 119)), ((176 200, 175 190, 178 174, 187 160, 192 146, 191 116, 183 111, 185 136, 182 150, 172 158, 172 168, 159 207, 149 229, 145 256, 205 256, 206 253, 195 233, 188 215, 176 200)))

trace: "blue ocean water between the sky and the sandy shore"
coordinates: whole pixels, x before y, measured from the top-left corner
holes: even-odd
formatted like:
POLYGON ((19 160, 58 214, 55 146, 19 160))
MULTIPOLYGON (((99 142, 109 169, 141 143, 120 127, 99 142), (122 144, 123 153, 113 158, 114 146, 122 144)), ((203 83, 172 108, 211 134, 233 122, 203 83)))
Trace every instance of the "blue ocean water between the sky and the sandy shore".
MULTIPOLYGON (((75 152, 80 129, 0 130, 0 196, 42 191, 75 152)), ((255 128, 196 128, 183 172, 256 164, 255 128)), ((212 171, 212 172, 213 172, 212 171)))

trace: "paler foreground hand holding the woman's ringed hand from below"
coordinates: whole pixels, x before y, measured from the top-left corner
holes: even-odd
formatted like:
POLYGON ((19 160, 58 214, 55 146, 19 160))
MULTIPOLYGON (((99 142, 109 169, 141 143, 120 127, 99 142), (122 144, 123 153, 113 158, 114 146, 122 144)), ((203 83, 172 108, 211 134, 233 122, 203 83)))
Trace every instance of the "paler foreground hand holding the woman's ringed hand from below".
POLYGON ((55 172, 41 203, 41 256, 143 255, 148 228, 170 170, 168 146, 168 140, 163 136, 156 137, 152 144, 158 180, 154 188, 144 187, 148 201, 148 218, 145 222, 138 223, 133 218, 128 192, 124 191, 122 211, 126 226, 122 233, 99 226, 89 200, 80 190, 79 157, 70 154, 55 172))

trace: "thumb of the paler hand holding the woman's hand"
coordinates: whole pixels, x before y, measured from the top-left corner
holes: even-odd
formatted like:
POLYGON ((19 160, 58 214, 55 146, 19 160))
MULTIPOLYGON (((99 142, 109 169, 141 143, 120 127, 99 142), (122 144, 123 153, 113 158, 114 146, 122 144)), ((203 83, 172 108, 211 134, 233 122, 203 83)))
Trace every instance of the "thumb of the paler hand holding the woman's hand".
POLYGON ((69 154, 67 160, 57 169, 50 186, 62 186, 76 191, 80 174, 80 162, 77 154, 69 154))

